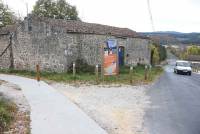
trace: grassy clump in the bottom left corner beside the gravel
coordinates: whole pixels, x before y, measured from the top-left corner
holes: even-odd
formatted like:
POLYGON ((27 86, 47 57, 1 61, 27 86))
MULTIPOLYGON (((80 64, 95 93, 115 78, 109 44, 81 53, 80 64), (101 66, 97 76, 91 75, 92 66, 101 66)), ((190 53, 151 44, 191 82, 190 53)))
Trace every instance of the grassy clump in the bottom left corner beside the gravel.
POLYGON ((0 133, 4 133, 15 118, 17 107, 9 100, 0 99, 0 133))

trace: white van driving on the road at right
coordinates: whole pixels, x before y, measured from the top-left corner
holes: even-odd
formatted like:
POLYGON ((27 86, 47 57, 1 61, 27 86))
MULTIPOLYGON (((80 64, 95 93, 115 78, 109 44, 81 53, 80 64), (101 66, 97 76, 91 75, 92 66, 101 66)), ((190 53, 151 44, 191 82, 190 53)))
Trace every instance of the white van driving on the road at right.
POLYGON ((192 74, 192 68, 188 61, 179 60, 176 61, 176 66, 174 67, 174 73, 176 74, 192 74))

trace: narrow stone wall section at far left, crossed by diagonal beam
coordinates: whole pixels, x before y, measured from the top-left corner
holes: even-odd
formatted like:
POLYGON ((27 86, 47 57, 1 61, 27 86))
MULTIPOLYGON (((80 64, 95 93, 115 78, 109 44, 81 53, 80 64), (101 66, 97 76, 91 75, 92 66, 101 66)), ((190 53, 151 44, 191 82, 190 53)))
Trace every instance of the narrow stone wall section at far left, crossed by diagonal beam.
MULTIPOLYGON (((9 45, 9 35, 0 35, 0 55, 9 45)), ((10 67, 10 48, 0 57, 0 69, 8 69, 10 67)))

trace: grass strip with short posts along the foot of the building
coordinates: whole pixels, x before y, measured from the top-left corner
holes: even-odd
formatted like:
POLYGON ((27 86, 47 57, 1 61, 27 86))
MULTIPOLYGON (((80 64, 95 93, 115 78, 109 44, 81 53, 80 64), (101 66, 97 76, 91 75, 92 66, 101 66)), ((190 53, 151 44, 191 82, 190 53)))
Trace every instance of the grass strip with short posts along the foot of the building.
MULTIPOLYGON (((155 80, 162 72, 163 69, 161 67, 153 67, 151 70, 148 69, 147 72, 147 80, 144 79, 145 77, 145 67, 143 65, 134 67, 132 75, 130 75, 130 68, 129 67, 122 67, 120 68, 120 74, 117 76, 104 76, 101 77, 101 73, 98 74, 99 83, 104 84, 112 84, 112 83, 122 83, 122 84, 129 84, 130 78, 132 78, 132 84, 139 84, 139 83, 149 83, 155 80)), ((92 69, 94 71, 94 68, 92 69)), ((41 78, 43 80, 50 80, 56 82, 80 82, 80 83, 97 83, 97 77, 95 73, 91 72, 83 72, 77 71, 76 77, 73 77, 71 72, 64 72, 64 73, 50 73, 50 72, 41 72, 41 78)), ((20 71, 20 70, 0 70, 1 73, 7 74, 15 74, 21 75, 26 77, 35 78, 36 73, 33 71, 20 71)))

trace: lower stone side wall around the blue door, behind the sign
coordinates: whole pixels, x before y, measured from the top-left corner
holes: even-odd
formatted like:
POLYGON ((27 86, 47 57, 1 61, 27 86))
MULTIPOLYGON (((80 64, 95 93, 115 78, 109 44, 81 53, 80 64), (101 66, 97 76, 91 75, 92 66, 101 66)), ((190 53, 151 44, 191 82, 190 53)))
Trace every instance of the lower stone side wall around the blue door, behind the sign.
POLYGON ((116 39, 125 48, 125 64, 150 64, 149 40, 140 38, 116 38, 104 35, 82 35, 81 55, 91 65, 101 64, 101 46, 108 39, 116 39))

